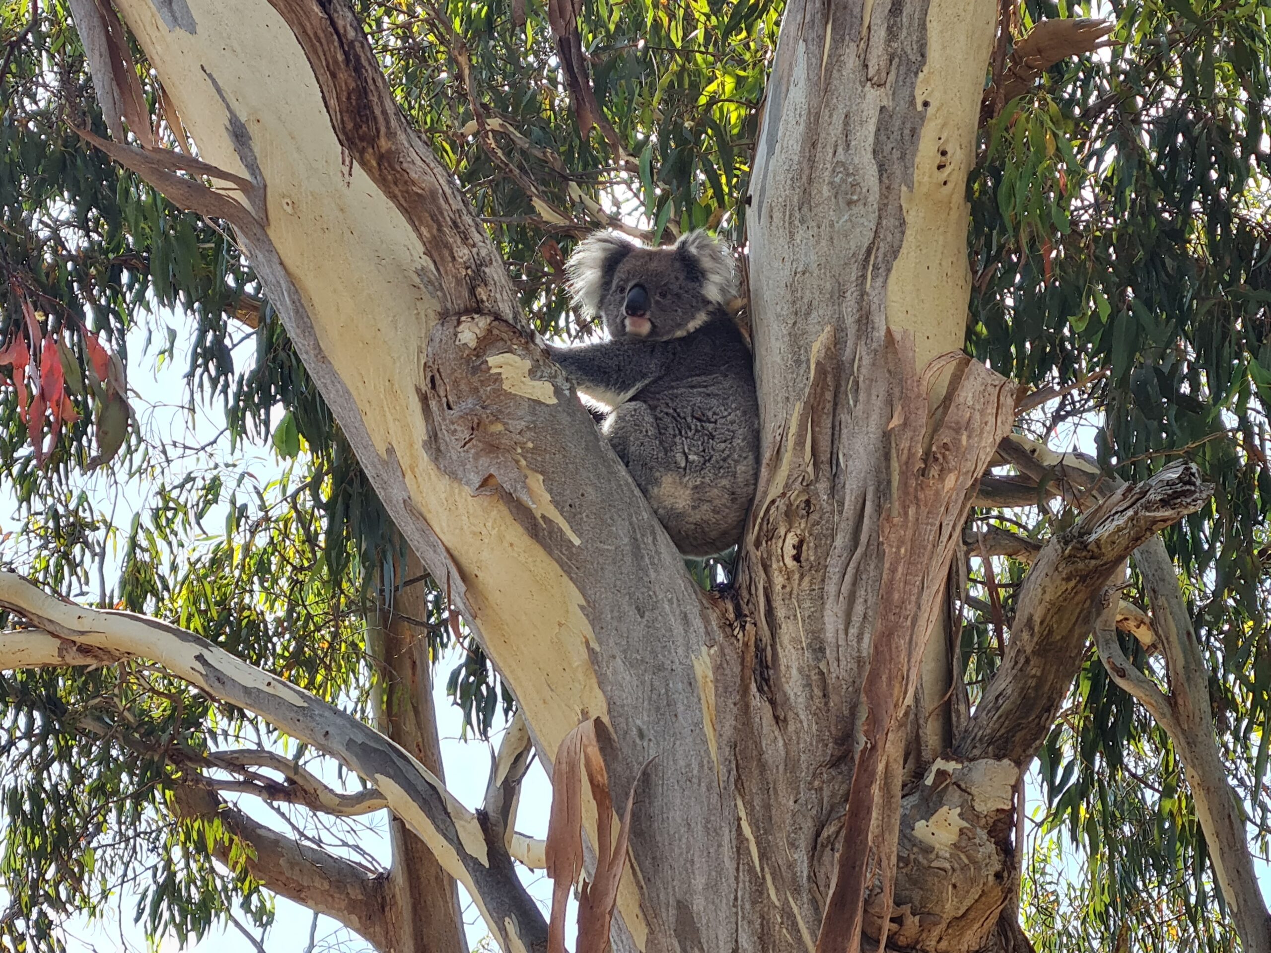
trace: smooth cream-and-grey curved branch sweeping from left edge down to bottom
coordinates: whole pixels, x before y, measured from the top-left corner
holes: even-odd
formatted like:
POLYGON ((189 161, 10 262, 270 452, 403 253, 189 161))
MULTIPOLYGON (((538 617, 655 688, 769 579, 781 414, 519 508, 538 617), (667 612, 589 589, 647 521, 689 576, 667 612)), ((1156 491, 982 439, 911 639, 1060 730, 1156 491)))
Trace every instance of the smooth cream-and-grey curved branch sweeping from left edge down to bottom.
MULTIPOLYGON (((384 793, 393 812, 428 845, 446 873, 464 884, 505 948, 547 948, 547 924, 502 844, 492 849, 478 818, 379 732, 286 680, 158 619, 85 609, 48 595, 15 573, 0 573, 0 606, 48 633, 48 657, 58 651, 52 643, 65 639, 150 658, 208 695, 253 712, 341 761, 384 793)), ((33 637, 24 635, 29 644, 33 637)), ((0 642, 0 659, 9 654, 0 642)))

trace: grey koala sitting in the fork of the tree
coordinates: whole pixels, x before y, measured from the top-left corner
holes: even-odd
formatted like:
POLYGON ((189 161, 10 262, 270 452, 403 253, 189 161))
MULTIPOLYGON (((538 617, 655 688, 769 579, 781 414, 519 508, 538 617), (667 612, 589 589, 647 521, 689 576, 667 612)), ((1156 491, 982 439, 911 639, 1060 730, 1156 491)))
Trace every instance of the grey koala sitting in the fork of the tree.
POLYGON ((549 346, 577 389, 609 408, 601 433, 684 555, 741 540, 759 478, 750 349, 724 310, 732 255, 704 231, 670 248, 614 233, 580 243, 569 292, 609 339, 549 346))

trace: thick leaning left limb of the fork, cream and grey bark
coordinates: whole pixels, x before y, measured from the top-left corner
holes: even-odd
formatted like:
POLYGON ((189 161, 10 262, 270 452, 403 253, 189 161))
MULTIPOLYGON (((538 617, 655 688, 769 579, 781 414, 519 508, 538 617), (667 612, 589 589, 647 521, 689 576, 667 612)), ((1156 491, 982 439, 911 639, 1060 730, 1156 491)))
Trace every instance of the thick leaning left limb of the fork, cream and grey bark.
MULTIPOLYGON (((633 832, 666 872, 644 881, 647 910, 624 878, 623 925, 643 945, 649 914, 675 923, 731 865, 735 812, 702 770, 714 738, 680 709, 722 626, 529 339, 488 235, 399 114, 347 4, 189 0, 174 29, 167 8, 117 3, 200 156, 267 187, 268 221, 240 215, 238 238, 389 516, 511 676, 540 754, 586 713, 619 740, 620 785, 653 754, 684 779, 643 802, 683 826, 633 832)), ((699 928, 721 948, 736 929, 699 928)))

